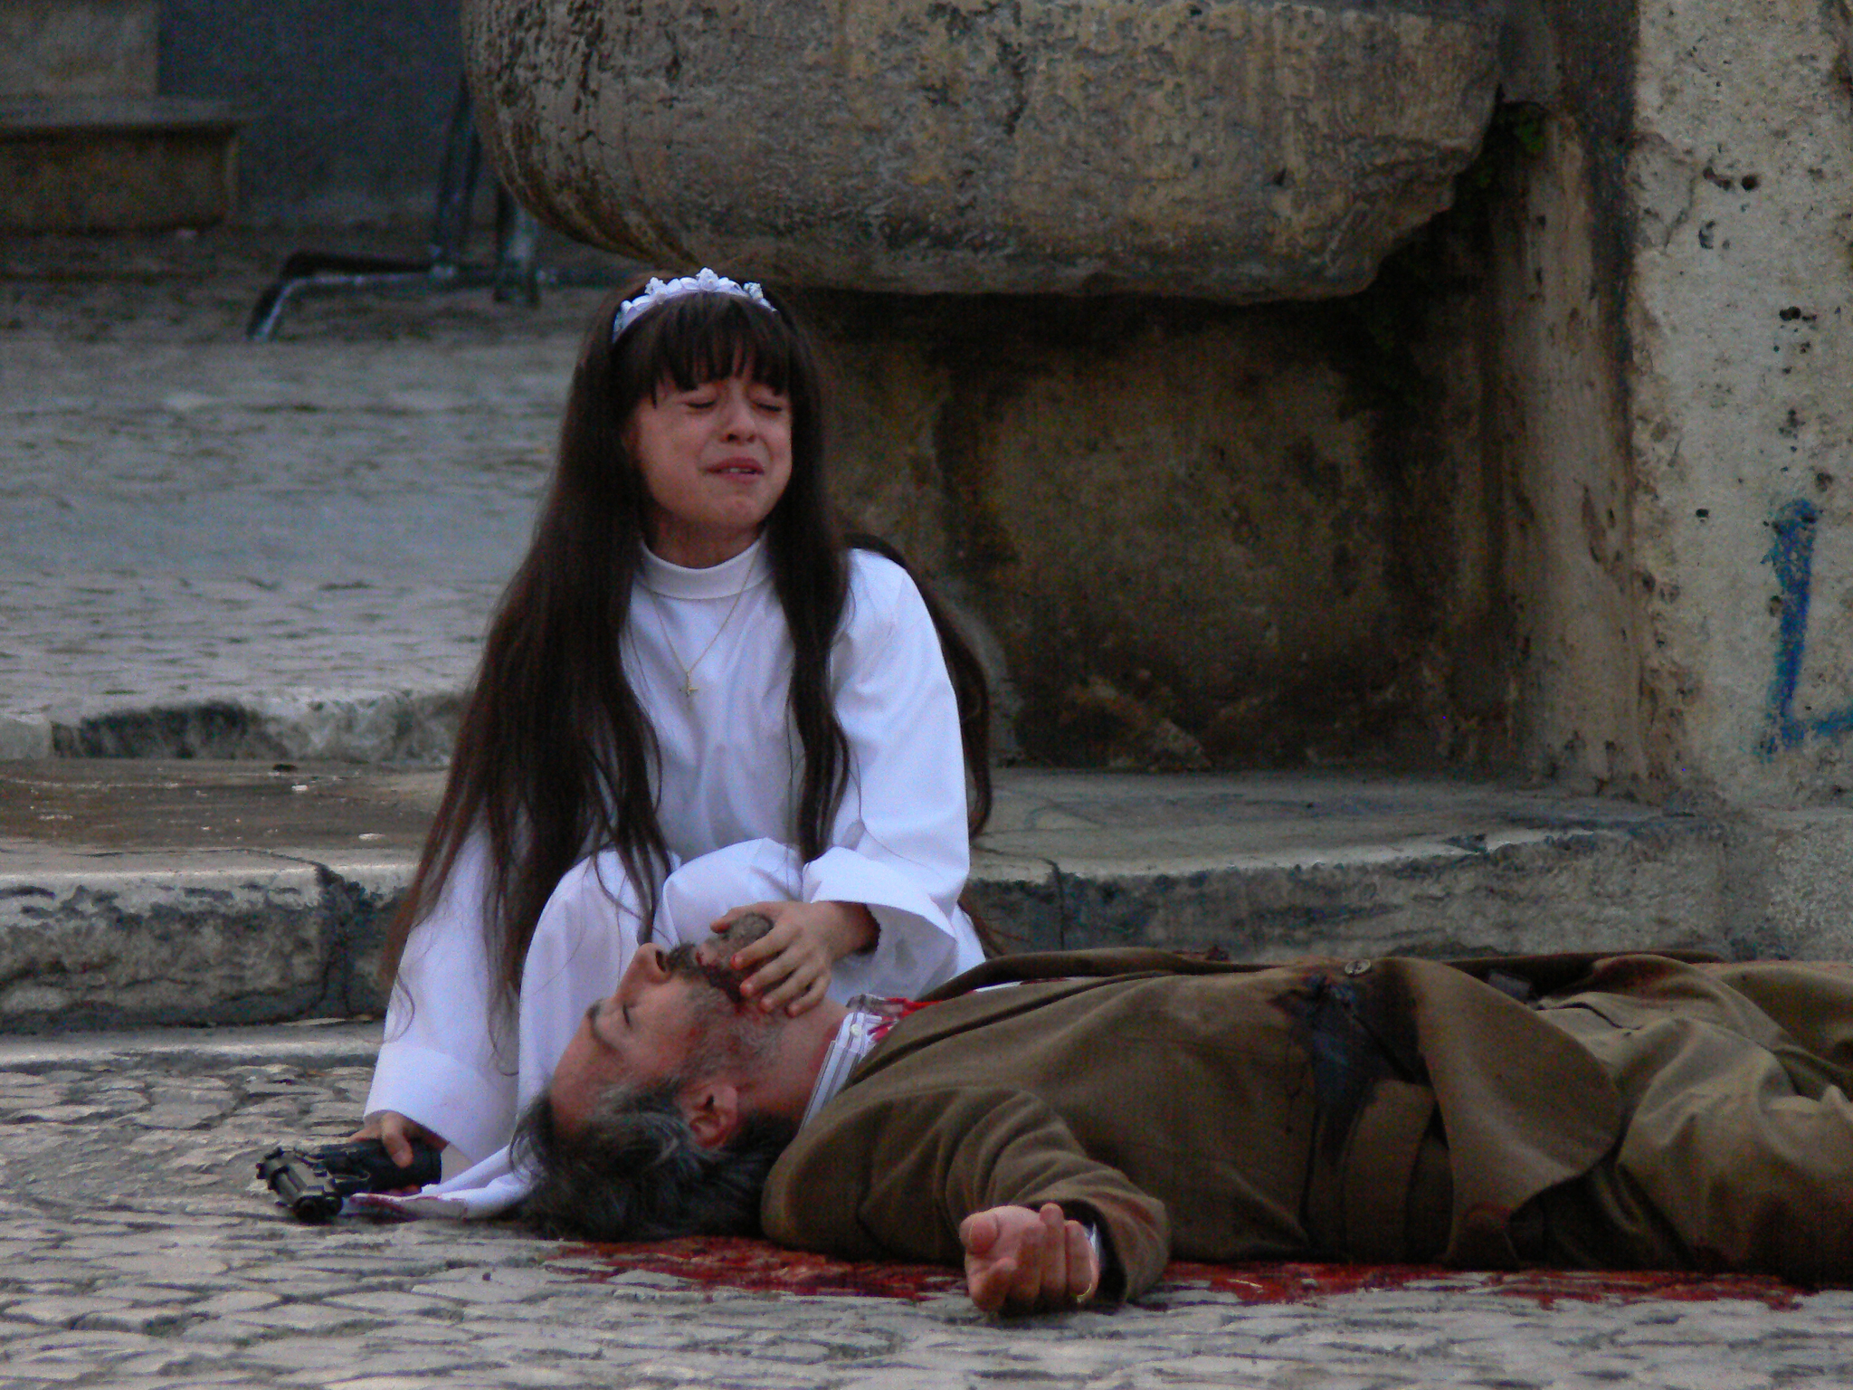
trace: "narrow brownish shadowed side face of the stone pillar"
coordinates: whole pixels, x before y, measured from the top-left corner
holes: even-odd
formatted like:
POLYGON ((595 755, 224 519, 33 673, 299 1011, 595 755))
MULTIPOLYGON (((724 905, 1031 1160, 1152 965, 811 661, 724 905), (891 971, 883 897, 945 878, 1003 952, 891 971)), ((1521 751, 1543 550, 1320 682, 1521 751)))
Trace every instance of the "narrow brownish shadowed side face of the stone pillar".
POLYGON ((1523 139, 1488 169, 1481 380, 1512 749, 1545 777, 1658 793, 1673 758, 1649 749, 1629 424, 1634 56, 1631 0, 1514 11, 1523 139))

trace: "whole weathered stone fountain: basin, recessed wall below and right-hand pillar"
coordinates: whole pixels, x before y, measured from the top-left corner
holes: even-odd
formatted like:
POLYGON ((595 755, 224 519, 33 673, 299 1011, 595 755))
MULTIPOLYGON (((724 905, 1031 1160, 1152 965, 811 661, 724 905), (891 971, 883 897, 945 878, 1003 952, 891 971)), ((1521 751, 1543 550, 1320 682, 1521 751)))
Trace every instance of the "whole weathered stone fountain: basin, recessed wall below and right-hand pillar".
POLYGON ((1847 0, 465 11, 547 221, 799 289, 1034 756, 1853 778, 1847 0))

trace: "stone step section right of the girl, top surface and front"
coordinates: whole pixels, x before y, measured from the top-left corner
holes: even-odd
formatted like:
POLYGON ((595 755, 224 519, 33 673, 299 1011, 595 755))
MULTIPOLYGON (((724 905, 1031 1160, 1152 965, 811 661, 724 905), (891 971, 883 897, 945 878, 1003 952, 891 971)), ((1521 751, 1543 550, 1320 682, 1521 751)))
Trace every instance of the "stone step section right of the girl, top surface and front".
MULTIPOLYGON (((1351 777, 1021 775, 999 802, 971 891, 1015 949, 1742 954, 1733 838, 1697 815, 1351 777), (1121 797, 1090 797, 1090 782, 1121 797)), ((1842 830, 1853 834, 1853 819, 1842 830)), ((1762 943, 1783 954, 1786 941, 1762 943)))

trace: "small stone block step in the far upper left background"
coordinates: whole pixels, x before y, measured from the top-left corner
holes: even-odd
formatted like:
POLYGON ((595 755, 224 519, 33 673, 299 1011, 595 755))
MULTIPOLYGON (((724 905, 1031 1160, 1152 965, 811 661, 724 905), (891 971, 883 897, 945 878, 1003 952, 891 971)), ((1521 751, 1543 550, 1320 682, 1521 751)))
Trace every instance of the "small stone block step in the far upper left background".
POLYGON ((221 222, 237 202, 237 132, 226 102, 0 98, 0 232, 221 222))

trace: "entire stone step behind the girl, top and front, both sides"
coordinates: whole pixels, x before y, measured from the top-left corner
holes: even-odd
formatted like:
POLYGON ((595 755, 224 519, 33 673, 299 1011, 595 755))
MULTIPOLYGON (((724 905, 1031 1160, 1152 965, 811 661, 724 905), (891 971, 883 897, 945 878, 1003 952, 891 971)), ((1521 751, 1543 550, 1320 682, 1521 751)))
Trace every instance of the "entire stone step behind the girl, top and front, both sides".
MULTIPOLYGON (((0 765, 0 1030, 376 1012, 382 930, 441 780, 0 765)), ((1723 821, 1469 782, 1004 769, 971 897, 1012 949, 1846 956, 1849 845, 1844 812, 1723 821)))

